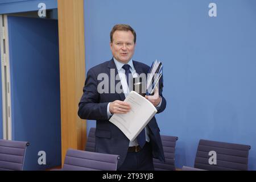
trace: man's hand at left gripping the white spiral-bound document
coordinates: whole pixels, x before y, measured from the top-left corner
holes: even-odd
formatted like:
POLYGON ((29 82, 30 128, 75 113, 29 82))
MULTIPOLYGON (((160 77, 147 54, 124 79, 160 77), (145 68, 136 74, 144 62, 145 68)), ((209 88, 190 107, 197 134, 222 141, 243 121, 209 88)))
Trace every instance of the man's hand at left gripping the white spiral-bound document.
POLYGON ((126 114, 130 111, 131 107, 127 102, 116 100, 110 102, 109 111, 111 114, 126 114))

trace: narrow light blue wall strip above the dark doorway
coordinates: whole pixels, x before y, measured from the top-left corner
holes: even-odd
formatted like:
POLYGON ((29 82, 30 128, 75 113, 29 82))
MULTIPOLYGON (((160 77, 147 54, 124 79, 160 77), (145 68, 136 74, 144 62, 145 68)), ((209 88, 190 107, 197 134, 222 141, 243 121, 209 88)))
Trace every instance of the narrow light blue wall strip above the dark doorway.
POLYGON ((41 2, 46 4, 46 9, 57 8, 57 0, 1 0, 0 14, 36 11, 41 2))

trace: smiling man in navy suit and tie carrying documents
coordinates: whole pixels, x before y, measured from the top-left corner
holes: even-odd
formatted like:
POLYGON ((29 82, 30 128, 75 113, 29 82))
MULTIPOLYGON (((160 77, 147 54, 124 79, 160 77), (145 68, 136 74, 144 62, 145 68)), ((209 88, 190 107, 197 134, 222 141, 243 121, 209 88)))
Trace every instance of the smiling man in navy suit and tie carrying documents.
MULTIPOLYGON (((119 155, 118 170, 154 170, 152 158, 165 160, 155 117, 134 141, 130 141, 109 121, 113 114, 126 114, 130 110, 130 105, 123 102, 130 91, 127 76, 138 77, 142 73, 147 74, 150 69, 148 65, 132 60, 135 45, 136 33, 133 28, 126 24, 113 27, 110 32, 113 59, 89 69, 78 114, 82 119, 96 120, 96 152, 119 155), (104 76, 109 80, 102 86, 104 76), (122 93, 117 92, 118 84, 122 93)), ((158 113, 166 108, 162 90, 161 79, 154 96, 145 96, 158 113)))

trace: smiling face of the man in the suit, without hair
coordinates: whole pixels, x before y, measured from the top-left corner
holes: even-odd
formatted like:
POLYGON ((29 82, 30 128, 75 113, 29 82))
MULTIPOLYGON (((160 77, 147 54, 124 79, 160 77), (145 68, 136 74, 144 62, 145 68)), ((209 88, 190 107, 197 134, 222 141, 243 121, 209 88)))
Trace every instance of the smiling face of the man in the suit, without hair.
POLYGON ((115 31, 113 42, 110 42, 114 58, 121 63, 128 63, 130 61, 134 54, 135 45, 134 36, 131 31, 115 31))

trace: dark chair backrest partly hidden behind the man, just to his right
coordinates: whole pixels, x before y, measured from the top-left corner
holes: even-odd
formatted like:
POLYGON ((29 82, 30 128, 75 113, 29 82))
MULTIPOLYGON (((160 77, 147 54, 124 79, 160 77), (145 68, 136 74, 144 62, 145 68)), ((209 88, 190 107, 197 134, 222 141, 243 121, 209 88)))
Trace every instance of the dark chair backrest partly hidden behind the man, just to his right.
POLYGON ((166 162, 160 162, 158 159, 153 159, 154 168, 156 171, 171 171, 175 170, 175 146, 177 137, 161 135, 161 140, 163 144, 164 156, 166 157, 166 162))

